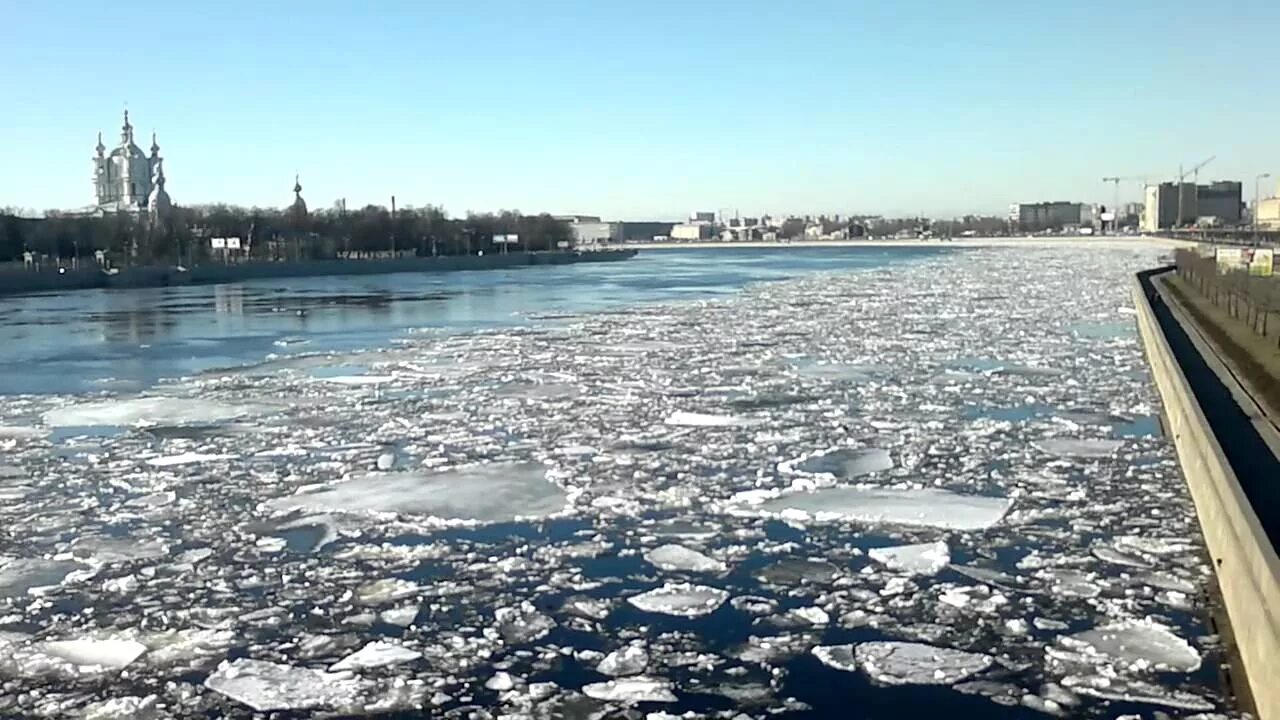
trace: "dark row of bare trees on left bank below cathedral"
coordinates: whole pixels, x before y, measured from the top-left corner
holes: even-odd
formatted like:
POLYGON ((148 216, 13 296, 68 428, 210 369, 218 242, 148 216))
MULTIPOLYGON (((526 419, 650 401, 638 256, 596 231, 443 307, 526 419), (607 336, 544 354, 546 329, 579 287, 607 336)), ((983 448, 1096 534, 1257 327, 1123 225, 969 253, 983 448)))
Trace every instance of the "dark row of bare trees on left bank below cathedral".
POLYGON ((84 217, 50 211, 32 219, 0 209, 0 263, 20 261, 26 252, 72 259, 101 251, 115 265, 198 264, 225 259, 211 247, 211 240, 219 237, 241 238, 242 250, 227 251, 230 259, 474 255, 503 251, 493 242, 495 234, 520 237, 511 251, 553 250, 573 237, 567 222, 548 214, 503 210, 449 218, 431 205, 397 208, 394 215, 381 205, 334 206, 308 214, 233 205, 175 206, 156 224, 125 213, 84 217))

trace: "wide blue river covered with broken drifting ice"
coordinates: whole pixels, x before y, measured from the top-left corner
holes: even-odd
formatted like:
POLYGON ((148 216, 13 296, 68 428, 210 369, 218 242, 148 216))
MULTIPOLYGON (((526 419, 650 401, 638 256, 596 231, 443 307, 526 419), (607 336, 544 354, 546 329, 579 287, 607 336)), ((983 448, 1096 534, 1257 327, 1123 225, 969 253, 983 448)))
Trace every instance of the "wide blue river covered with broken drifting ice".
POLYGON ((1224 712, 1157 255, 5 301, 0 715, 1224 712))

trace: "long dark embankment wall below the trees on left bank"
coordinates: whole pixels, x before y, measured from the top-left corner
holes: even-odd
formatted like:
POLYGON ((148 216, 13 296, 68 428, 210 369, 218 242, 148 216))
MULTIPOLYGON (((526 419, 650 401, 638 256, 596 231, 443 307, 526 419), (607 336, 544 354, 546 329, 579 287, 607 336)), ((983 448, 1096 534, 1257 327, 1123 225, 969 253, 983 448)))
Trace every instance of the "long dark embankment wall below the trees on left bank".
POLYGON ((378 275, 385 273, 444 273, 498 270, 530 265, 605 263, 634 258, 635 250, 600 252, 509 252, 506 255, 454 255, 448 258, 397 258, 383 260, 300 260, 288 263, 236 263, 177 268, 128 268, 116 274, 99 269, 13 272, 0 274, 0 295, 64 290, 221 284, 251 279, 315 278, 325 275, 378 275))

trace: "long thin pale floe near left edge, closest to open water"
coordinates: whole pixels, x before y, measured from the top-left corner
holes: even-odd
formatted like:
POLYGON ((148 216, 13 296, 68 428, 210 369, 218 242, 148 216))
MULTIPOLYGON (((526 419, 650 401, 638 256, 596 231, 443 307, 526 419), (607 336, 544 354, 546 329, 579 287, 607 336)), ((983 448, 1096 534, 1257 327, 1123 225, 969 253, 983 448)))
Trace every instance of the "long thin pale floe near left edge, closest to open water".
POLYGON ((205 425, 261 411, 261 406, 232 405, 196 397, 134 397, 59 407, 45 413, 44 420, 46 425, 54 428, 205 425))

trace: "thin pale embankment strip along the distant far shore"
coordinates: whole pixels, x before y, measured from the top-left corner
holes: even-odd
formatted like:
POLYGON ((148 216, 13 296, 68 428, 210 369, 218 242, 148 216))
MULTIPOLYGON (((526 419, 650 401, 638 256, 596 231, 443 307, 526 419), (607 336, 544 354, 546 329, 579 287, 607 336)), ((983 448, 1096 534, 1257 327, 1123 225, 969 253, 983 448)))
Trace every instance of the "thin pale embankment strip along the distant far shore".
POLYGON ((626 250, 713 250, 728 247, 1193 247, 1185 240, 1155 236, 1096 236, 1096 237, 963 237, 954 240, 797 240, 792 242, 762 241, 699 241, 699 242, 627 242, 617 247, 626 250))

